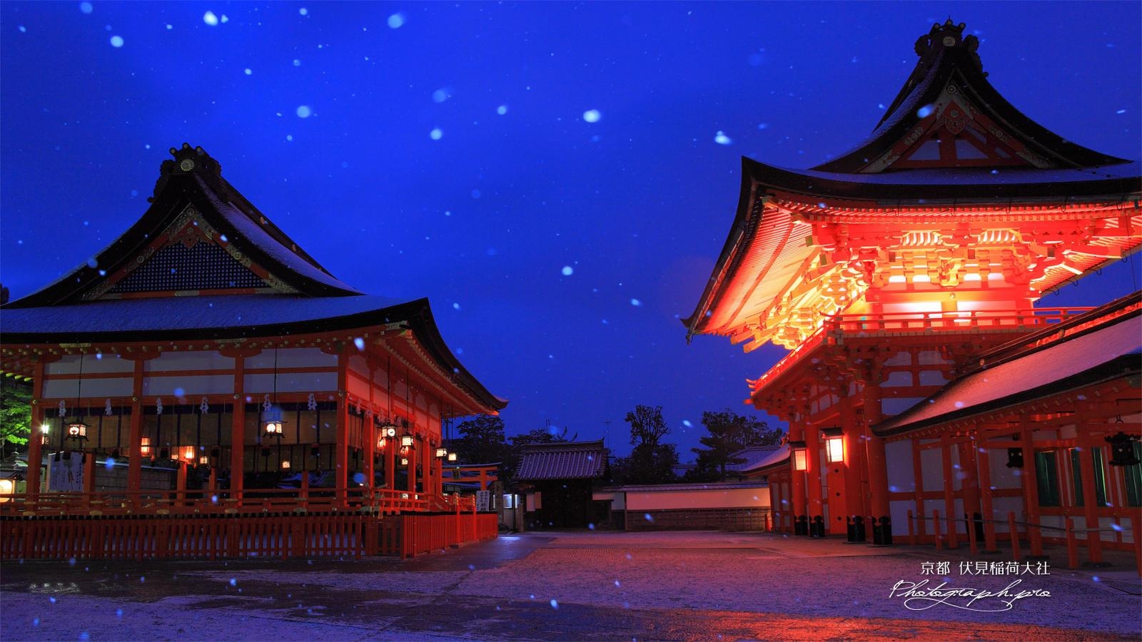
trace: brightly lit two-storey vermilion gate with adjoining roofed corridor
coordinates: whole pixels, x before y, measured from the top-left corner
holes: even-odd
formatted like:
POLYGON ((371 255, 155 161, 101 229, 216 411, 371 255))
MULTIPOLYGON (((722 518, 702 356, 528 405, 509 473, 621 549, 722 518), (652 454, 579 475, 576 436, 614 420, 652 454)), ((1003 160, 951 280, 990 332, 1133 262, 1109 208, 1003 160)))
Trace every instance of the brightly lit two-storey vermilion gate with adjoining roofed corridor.
POLYGON ((1035 304, 1139 248, 1142 178, 1005 101, 963 29, 916 42, 855 150, 807 170, 742 159, 737 216, 684 322, 791 351, 749 382, 749 402, 789 423, 753 471, 780 528, 994 547, 1015 513, 1032 547, 1070 530, 1097 561, 1100 540, 1137 540, 1140 298, 1035 304))

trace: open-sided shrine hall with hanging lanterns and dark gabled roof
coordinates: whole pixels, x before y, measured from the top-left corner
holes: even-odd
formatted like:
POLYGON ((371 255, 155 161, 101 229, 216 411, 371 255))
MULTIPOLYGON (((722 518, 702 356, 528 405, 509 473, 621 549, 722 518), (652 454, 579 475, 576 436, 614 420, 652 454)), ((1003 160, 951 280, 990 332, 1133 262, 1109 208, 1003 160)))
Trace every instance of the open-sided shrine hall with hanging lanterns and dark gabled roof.
MULTIPOLYGON (((88 264, 0 308, 2 370, 31 380, 34 426, 24 491, 0 499, 2 555, 88 546, 98 556, 121 544, 95 531, 56 548, 13 544, 14 529, 47 532, 51 517, 58 530, 69 516, 242 517, 284 538, 268 554, 313 553, 322 529, 343 529, 339 553, 386 552, 381 530, 402 537, 386 519, 461 508, 471 532, 432 522, 421 539, 494 537, 493 514, 477 524, 474 504, 443 493, 442 426, 507 402, 448 348, 428 300, 339 281, 201 147, 171 154, 138 222, 88 264), (41 462, 70 474, 45 479, 41 462), (278 531, 254 519, 282 512, 306 516, 308 535, 289 543, 296 523, 278 531)), ((428 548, 403 535, 396 552, 428 548)), ((127 554, 158 554, 154 541, 127 554)), ((171 554, 252 546, 218 541, 183 540, 171 554)))

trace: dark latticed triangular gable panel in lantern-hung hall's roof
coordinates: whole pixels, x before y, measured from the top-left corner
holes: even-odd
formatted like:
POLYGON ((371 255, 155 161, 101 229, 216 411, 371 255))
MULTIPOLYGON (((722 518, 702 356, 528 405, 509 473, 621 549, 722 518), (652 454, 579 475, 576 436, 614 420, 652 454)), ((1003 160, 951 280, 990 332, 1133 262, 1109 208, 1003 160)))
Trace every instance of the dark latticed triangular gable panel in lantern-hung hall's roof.
POLYGON ((111 288, 112 292, 154 292, 166 290, 224 290, 264 288, 266 283, 248 267, 211 242, 187 248, 171 243, 126 279, 111 288))

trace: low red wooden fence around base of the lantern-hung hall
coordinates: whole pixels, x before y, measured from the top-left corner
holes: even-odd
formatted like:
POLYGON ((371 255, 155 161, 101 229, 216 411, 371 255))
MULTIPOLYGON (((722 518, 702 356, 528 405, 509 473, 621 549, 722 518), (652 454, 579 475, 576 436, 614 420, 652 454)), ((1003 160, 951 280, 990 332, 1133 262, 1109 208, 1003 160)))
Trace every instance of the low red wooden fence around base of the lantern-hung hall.
POLYGON ((14 496, 0 504, 0 560, 413 555, 492 539, 474 497, 347 489, 14 496), (174 497, 174 498, 172 498, 174 497))

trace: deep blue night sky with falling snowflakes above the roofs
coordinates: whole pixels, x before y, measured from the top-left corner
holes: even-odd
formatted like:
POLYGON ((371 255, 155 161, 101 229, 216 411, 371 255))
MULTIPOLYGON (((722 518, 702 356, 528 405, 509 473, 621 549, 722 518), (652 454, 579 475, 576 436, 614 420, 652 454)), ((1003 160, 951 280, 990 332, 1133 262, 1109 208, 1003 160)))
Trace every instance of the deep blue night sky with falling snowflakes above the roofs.
MULTIPOLYGON (((949 15, 1016 107, 1142 157, 1139 2, 2 2, 0 278, 16 298, 85 263, 188 142, 339 279, 429 297, 508 434, 622 454, 625 414, 661 404, 686 460, 701 411, 748 411, 783 354, 687 346, 678 321, 740 157, 862 141, 949 15)), ((1043 303, 1103 303, 1137 268, 1043 303)))

